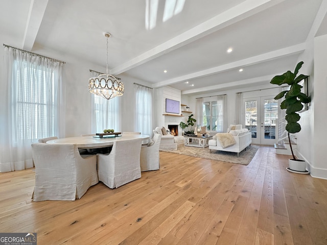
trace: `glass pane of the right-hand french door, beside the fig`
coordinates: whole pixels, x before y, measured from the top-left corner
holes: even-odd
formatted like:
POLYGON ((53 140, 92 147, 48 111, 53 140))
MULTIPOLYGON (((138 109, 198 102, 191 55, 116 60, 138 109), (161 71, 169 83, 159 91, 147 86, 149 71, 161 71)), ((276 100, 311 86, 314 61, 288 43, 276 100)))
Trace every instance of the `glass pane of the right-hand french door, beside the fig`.
POLYGON ((276 120, 278 117, 277 101, 274 99, 269 99, 269 100, 265 100, 264 104, 265 104, 265 112, 264 112, 265 139, 274 139, 276 120))

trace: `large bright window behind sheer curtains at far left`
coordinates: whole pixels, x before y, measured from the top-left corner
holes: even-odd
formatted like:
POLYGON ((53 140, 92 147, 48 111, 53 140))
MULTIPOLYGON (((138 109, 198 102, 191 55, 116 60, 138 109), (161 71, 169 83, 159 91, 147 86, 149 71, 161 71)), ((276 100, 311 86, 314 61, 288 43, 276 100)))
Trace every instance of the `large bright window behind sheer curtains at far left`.
POLYGON ((58 135, 57 86, 54 70, 15 60, 13 64, 14 140, 58 135))

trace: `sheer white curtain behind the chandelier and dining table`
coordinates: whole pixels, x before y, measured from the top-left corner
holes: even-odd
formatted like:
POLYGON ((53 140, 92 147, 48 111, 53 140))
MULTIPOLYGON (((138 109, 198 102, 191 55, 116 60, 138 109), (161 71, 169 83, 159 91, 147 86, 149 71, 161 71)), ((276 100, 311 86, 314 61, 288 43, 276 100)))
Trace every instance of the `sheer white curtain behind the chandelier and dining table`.
MULTIPOLYGON (((90 70, 91 77, 101 75, 90 70)), ((104 129, 113 129, 121 132, 121 96, 106 100, 103 97, 91 94, 91 132, 102 133, 104 129)))

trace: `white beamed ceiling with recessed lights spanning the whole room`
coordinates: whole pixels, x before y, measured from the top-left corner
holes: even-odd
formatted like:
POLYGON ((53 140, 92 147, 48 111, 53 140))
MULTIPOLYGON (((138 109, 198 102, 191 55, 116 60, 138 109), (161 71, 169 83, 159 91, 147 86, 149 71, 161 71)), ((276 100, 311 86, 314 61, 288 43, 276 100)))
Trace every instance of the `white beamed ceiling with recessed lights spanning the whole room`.
POLYGON ((114 75, 182 94, 268 83, 294 69, 310 35, 327 34, 326 0, 1 2, 0 33, 21 40, 19 48, 39 54, 46 48, 53 58, 71 55, 105 71, 109 32, 114 75))

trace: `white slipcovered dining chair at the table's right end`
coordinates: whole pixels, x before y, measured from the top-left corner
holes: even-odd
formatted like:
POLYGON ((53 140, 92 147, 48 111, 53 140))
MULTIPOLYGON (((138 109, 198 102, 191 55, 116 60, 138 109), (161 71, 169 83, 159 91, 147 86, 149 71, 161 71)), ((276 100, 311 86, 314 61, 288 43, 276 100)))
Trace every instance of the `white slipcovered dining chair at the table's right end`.
POLYGON ((161 135, 154 134, 152 140, 141 148, 141 171, 158 170, 159 164, 159 147, 161 135))

